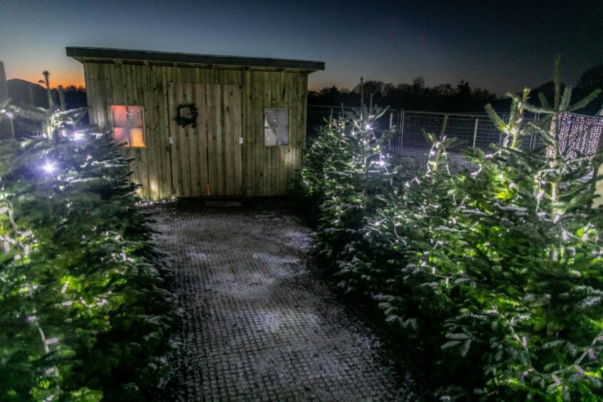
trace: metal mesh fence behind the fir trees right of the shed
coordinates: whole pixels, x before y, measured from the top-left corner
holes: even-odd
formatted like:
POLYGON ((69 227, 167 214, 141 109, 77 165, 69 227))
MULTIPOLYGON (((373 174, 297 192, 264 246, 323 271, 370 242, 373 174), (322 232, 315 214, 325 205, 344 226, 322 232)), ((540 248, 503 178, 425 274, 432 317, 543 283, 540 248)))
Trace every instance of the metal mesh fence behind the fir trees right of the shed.
MULTIPOLYGON (((339 115, 341 111, 351 111, 354 108, 341 108, 341 106, 308 106, 308 133, 315 135, 316 128, 324 124, 324 119, 332 114, 339 115)), ((480 148, 490 150, 490 144, 501 143, 503 133, 492 123, 485 113, 436 113, 416 110, 387 110, 385 115, 378 119, 378 128, 393 128, 395 134, 390 142, 390 152, 396 155, 422 155, 431 148, 423 130, 428 133, 439 134, 442 130, 444 119, 448 116, 445 134, 448 138, 457 138, 458 145, 448 150, 450 153, 461 153, 467 148, 480 148)), ((500 114, 503 120, 509 118, 508 114, 500 114)), ((522 124, 537 123, 540 115, 525 113, 522 124)), ((562 135, 560 145, 562 149, 572 155, 592 156, 599 150, 603 134, 603 118, 576 113, 564 113, 560 118, 562 135)), ((544 142, 537 133, 522 140, 522 148, 540 148, 544 142)))

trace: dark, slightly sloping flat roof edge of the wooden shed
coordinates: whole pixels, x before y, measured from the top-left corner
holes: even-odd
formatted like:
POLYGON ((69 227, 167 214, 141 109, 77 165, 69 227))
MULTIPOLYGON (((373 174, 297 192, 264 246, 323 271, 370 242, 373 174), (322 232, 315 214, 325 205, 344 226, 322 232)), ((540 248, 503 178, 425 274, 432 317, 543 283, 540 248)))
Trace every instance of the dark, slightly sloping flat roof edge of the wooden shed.
POLYGON ((288 58, 216 56, 212 54, 87 47, 67 47, 66 51, 67 56, 75 58, 81 63, 90 61, 144 64, 147 66, 243 68, 246 70, 298 71, 305 73, 324 70, 324 62, 322 61, 291 60, 288 58))

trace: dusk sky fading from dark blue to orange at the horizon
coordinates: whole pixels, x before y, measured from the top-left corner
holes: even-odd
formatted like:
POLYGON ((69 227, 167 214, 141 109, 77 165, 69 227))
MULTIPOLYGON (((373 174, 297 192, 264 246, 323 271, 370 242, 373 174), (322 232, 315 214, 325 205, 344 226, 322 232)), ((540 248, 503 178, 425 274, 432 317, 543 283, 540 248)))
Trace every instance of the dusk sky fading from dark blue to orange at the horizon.
POLYGON ((603 63, 603 1, 33 1, 2 0, 8 78, 83 85, 66 46, 324 61, 309 88, 393 84, 472 87, 500 95, 564 81, 603 63))

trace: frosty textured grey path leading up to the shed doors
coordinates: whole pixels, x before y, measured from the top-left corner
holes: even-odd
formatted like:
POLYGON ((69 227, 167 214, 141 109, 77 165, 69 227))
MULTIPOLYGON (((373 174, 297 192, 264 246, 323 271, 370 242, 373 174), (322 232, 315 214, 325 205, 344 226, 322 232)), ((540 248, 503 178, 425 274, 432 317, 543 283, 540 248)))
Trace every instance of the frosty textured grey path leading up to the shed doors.
POLYGON ((306 267, 309 230, 287 212, 167 205, 155 219, 184 311, 174 398, 420 399, 306 267))

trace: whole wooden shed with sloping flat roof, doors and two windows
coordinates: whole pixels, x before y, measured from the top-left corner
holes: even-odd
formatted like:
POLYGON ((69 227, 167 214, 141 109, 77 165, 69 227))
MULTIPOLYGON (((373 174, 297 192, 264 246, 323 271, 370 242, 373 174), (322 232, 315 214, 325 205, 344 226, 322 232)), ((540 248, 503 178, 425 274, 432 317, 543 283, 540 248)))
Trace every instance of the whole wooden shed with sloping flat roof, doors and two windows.
POLYGON ((66 48, 91 124, 132 158, 140 196, 284 195, 306 143, 319 61, 66 48))

